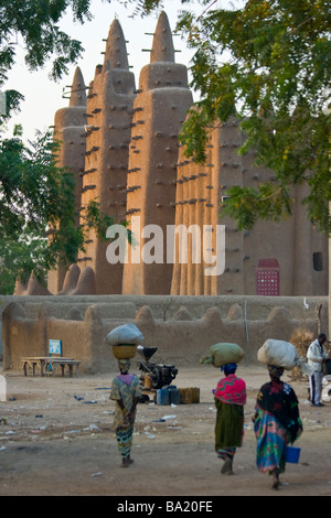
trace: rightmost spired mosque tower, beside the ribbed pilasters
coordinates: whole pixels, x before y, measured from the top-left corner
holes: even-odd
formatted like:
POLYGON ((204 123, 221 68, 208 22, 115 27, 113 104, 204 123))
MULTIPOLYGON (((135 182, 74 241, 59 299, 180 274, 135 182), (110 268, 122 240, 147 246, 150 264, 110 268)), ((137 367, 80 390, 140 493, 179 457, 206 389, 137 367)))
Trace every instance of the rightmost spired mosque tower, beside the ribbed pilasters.
POLYGON ((167 263, 167 226, 174 225, 178 134, 192 102, 188 69, 174 63, 172 34, 162 12, 153 35, 150 64, 140 72, 134 108, 127 220, 136 239, 137 262, 130 260, 130 248, 124 269, 124 293, 170 293, 172 263, 167 263), (139 241, 140 251, 146 251, 140 260, 139 241))

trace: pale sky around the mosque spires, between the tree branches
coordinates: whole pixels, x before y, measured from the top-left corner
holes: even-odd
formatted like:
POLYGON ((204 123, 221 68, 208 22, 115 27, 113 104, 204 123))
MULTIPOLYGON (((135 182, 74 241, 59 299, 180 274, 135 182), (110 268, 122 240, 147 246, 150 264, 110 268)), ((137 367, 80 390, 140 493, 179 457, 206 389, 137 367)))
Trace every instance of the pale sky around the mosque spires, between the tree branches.
MULTIPOLYGON (((227 4, 227 0, 220 0, 218 7, 227 4)), ((195 2, 190 2, 190 9, 203 10, 201 6, 195 2)), ((170 26, 172 30, 175 28, 177 13, 182 9, 179 0, 167 0, 166 12, 169 18, 170 26)), ((23 48, 18 41, 17 64, 9 74, 9 80, 3 89, 17 89, 24 95, 25 100, 21 104, 21 112, 14 116, 10 122, 9 129, 14 123, 23 126, 23 139, 33 139, 35 130, 44 131, 47 127, 53 126, 55 111, 60 108, 68 106, 68 100, 63 98, 63 90, 68 90, 67 86, 72 84, 74 72, 78 65, 82 69, 86 86, 94 78, 95 67, 103 64, 106 39, 114 18, 118 18, 125 39, 127 41, 127 52, 129 65, 135 73, 136 86, 138 85, 140 69, 149 63, 150 54, 143 52, 142 48, 151 48, 152 35, 146 33, 153 33, 157 26, 158 17, 152 14, 148 18, 141 19, 136 17, 130 18, 134 10, 134 4, 125 9, 116 0, 111 3, 105 3, 102 0, 92 0, 90 11, 94 19, 90 22, 74 23, 71 13, 68 13, 61 24, 61 29, 68 33, 72 37, 79 40, 85 48, 83 57, 71 67, 66 77, 58 83, 54 83, 49 78, 51 64, 45 66, 44 69, 31 73, 28 71, 24 58, 23 48)), ((22 43, 22 42, 21 42, 22 43)), ((190 66, 192 51, 188 51, 185 42, 181 36, 174 36, 173 43, 175 50, 175 62, 190 66)))

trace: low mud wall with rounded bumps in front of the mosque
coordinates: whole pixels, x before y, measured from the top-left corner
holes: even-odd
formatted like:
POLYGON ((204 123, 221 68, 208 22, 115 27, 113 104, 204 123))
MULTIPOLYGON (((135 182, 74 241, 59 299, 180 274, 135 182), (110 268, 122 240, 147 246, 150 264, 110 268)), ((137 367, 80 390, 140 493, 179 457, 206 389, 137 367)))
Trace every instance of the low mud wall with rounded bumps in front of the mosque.
MULTIPOLYGON (((47 356, 61 339, 63 356, 81 360, 81 371, 117 368, 105 337, 117 325, 135 323, 143 345, 158 347, 156 361, 196 365, 217 342, 234 342, 255 363, 267 338, 288 341, 305 325, 328 330, 327 298, 264 296, 2 296, 3 370, 22 368, 23 356, 47 356)), ((137 357, 137 361, 139 358, 137 357)), ((132 360, 135 363, 135 360, 132 360)))

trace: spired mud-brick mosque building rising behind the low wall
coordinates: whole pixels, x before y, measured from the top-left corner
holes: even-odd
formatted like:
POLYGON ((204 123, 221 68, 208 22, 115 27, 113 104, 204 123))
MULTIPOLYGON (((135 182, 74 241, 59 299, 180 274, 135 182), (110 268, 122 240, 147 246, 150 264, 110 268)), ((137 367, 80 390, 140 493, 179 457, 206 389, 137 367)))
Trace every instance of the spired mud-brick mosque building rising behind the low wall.
MULTIPOLYGON (((210 132, 204 165, 184 157, 178 136, 193 99, 188 68, 175 63, 174 55, 162 12, 150 63, 141 69, 137 87, 115 19, 104 64, 96 66, 88 87, 76 68, 70 104, 55 114, 54 131, 62 142, 58 162, 75 175, 81 218, 88 202, 96 199, 116 223, 127 222, 130 228, 138 220, 140 229, 157 225, 164 239, 169 226, 195 226, 201 235, 207 227, 214 260, 220 245, 216 228, 224 225, 224 271, 206 274, 210 262, 192 257, 190 233, 185 262, 179 259, 179 246, 174 260, 167 261, 164 241, 162 260, 110 263, 108 242, 90 230, 77 262, 67 271, 49 272, 44 294, 325 295, 328 239, 307 219, 301 205, 305 185, 293 191, 292 216, 286 220, 258 222, 253 230, 242 231, 229 217, 220 217, 229 186, 273 181, 273 171, 254 165, 254 152, 237 153, 245 137, 235 119, 210 132)), ((15 293, 34 294, 33 284, 18 285, 15 293)))

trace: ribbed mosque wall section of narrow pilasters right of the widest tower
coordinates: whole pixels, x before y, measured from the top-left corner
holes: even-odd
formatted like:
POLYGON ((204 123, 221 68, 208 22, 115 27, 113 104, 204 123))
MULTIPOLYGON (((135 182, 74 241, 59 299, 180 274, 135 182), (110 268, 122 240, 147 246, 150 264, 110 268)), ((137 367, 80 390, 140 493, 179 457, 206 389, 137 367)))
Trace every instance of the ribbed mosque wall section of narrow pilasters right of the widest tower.
POLYGON ((214 279, 205 274, 210 267, 209 257, 203 251, 207 248, 210 256, 215 255, 215 222, 217 203, 217 179, 213 164, 213 144, 209 136, 207 160, 201 165, 193 159, 188 160, 185 149, 180 148, 175 198, 175 228, 185 228, 185 233, 175 234, 174 265, 171 282, 171 294, 206 295, 214 294, 214 279), (205 228, 213 230, 206 235, 205 228), (204 245, 204 235, 210 244, 204 245))

